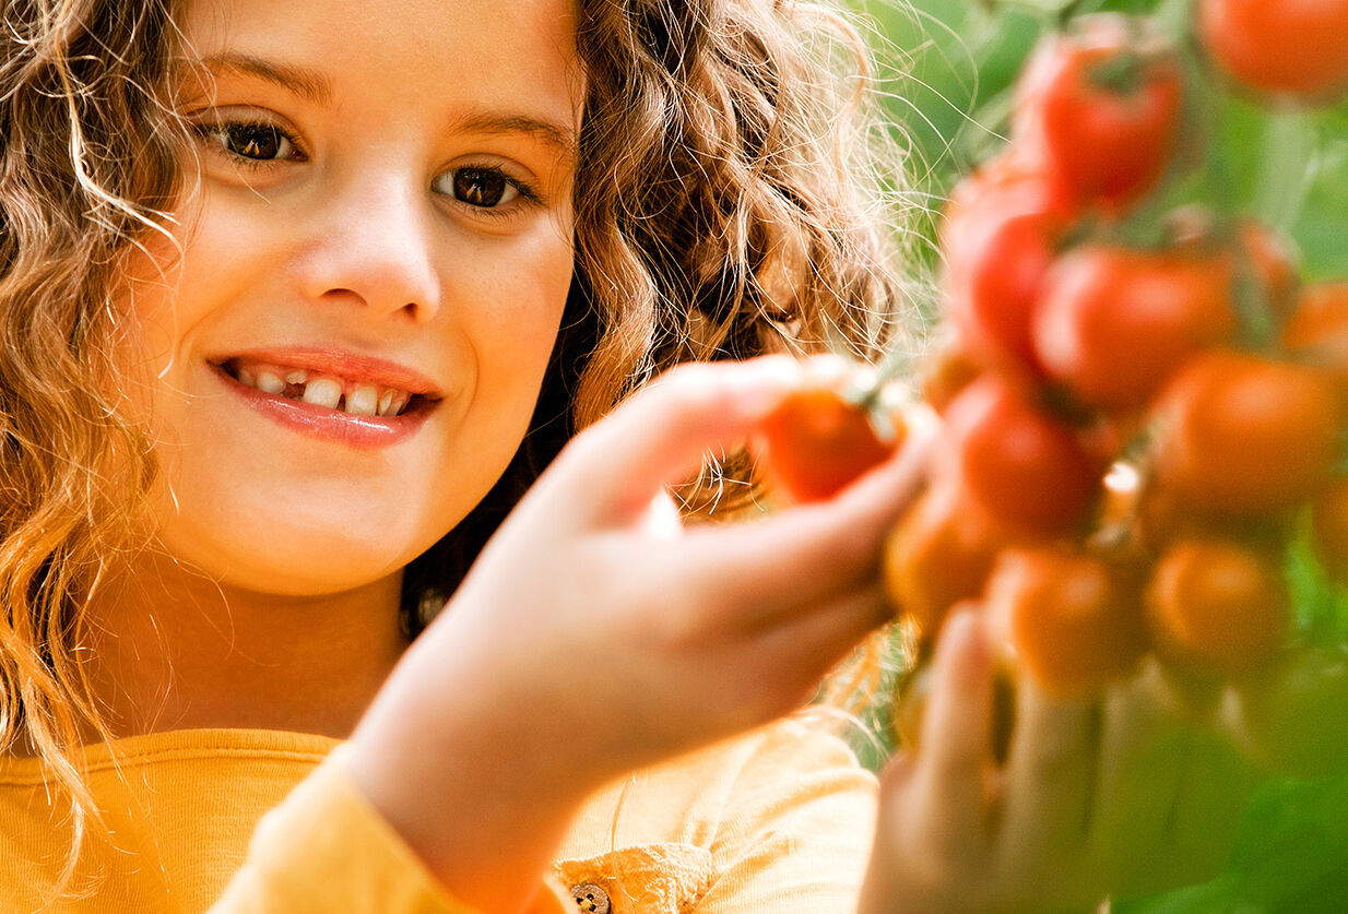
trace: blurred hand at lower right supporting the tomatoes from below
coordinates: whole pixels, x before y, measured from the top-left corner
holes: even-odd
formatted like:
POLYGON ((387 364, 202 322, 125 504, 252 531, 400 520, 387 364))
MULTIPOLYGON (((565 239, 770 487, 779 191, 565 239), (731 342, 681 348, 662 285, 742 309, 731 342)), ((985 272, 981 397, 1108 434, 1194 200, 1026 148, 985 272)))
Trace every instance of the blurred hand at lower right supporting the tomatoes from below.
POLYGON ((1170 713, 1153 675, 1097 702, 1020 682, 996 770, 992 661, 975 615, 950 620, 934 673, 921 751, 884 775, 867 914, 1092 911, 1225 861, 1251 766, 1170 713))

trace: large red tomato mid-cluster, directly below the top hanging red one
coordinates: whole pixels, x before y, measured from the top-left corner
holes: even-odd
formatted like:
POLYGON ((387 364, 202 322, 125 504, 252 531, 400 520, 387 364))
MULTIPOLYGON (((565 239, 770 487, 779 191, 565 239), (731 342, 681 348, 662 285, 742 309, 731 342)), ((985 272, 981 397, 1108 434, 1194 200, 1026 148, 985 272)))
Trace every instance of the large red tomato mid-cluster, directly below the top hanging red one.
POLYGON ((1035 352, 1084 403, 1140 407, 1189 356, 1235 336, 1229 293, 1219 257, 1084 245, 1045 280, 1035 352))

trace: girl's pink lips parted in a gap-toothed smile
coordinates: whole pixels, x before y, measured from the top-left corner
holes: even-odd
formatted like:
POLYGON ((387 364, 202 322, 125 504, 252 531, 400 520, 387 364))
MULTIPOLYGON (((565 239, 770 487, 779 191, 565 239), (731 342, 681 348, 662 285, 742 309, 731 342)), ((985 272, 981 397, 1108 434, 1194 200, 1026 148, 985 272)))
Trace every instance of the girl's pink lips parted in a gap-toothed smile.
POLYGON ((402 441, 441 400, 425 375, 341 351, 251 351, 209 364, 231 392, 267 418, 352 446, 402 441))

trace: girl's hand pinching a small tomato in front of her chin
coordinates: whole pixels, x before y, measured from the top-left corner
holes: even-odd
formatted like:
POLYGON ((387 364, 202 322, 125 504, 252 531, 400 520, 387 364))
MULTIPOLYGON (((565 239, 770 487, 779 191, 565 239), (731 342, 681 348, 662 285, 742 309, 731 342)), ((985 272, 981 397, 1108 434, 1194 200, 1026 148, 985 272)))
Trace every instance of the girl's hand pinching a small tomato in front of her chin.
POLYGON ((888 619, 880 542, 919 446, 754 523, 683 528, 666 492, 803 382, 682 368, 578 435, 376 700, 353 774, 465 901, 508 907, 585 794, 798 706, 888 619))

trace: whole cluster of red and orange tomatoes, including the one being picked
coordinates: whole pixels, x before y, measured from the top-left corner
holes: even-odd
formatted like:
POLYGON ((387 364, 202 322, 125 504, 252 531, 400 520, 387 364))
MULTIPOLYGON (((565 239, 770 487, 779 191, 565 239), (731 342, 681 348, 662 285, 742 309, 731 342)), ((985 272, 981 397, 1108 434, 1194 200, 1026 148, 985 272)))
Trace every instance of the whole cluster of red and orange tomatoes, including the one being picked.
MULTIPOLYGON (((942 442, 884 555, 923 642, 972 603, 1049 693, 1091 694, 1148 655, 1186 679, 1258 682, 1237 716, 1294 770, 1324 754, 1266 731, 1326 705, 1348 732, 1343 651, 1286 662, 1283 572, 1306 537, 1348 584, 1348 282, 1304 284, 1247 216, 1153 210, 1201 159, 1196 80, 1277 104, 1348 92, 1348 0, 1302 5, 1201 0, 1197 66, 1113 13, 1037 49, 1011 144, 945 213, 945 344, 922 387, 942 442)), ((883 460, 878 399, 834 387, 783 404, 766 429, 783 485, 821 497, 883 460)))

